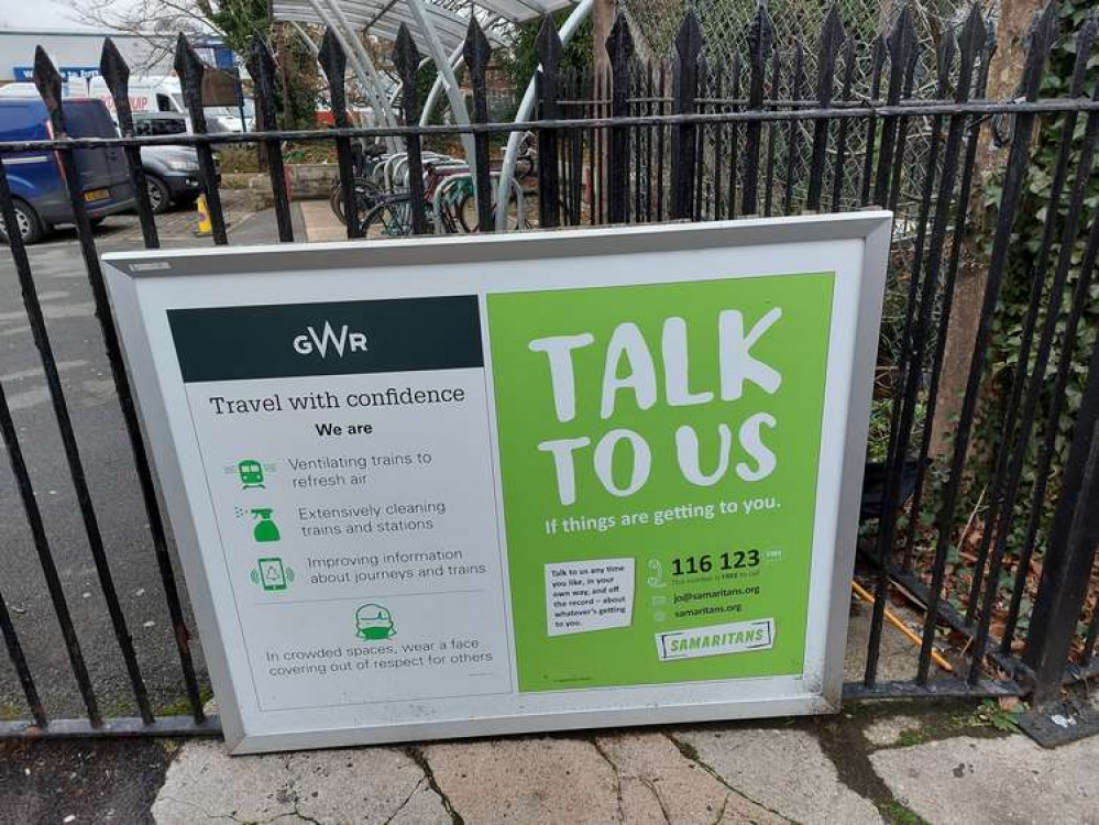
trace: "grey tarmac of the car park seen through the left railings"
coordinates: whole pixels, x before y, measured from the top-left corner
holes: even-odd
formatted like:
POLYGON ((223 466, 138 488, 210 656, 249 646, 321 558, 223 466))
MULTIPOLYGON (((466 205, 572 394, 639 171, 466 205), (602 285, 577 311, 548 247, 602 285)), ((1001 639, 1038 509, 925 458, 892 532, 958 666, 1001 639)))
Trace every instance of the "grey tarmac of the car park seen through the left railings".
MULTIPOLYGON (((273 211, 250 213, 233 193, 223 195, 231 244, 277 241, 273 211)), ((194 212, 168 212, 156 222, 165 249, 212 245, 209 238, 194 235, 194 212)), ((299 218, 296 223, 299 237, 304 238, 299 218)), ((141 249, 136 216, 108 218, 96 230, 96 241, 100 253, 141 249)), ((18 428, 50 550, 100 710, 105 716, 134 716, 133 691, 118 652, 87 534, 75 504, 72 475, 42 361, 20 298, 14 262, 6 246, 0 250, 0 386, 18 428)), ((151 549, 147 517, 76 233, 61 229, 46 242, 28 248, 28 253, 114 585, 150 698, 161 713, 185 713, 180 702, 179 660, 151 549)), ((0 452, 7 450, 0 446, 0 452)), ((3 537, 0 593, 46 712, 51 718, 81 717, 85 706, 7 455, 0 461, 0 535, 3 537)), ((176 572, 183 587, 178 565, 176 572)), ((194 628, 189 608, 187 617, 194 628)), ((197 639, 193 647, 200 679, 206 684, 197 639)), ((0 719, 28 717, 14 670, 8 657, 2 656, 0 719)))

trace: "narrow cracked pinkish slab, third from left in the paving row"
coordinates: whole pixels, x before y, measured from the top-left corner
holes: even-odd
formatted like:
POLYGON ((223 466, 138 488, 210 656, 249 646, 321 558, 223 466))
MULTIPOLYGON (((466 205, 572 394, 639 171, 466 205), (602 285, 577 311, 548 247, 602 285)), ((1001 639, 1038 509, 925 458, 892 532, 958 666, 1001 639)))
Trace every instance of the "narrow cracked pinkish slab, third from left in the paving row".
POLYGON ((788 822, 724 785, 663 734, 607 735, 595 744, 614 767, 623 822, 630 825, 788 822))

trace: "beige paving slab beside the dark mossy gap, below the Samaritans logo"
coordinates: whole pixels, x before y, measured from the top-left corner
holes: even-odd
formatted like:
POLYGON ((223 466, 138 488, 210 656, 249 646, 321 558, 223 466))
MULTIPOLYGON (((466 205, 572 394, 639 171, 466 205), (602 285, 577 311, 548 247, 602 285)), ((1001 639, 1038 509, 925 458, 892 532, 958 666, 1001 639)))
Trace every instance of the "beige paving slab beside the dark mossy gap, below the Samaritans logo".
POLYGON ((804 825, 882 822, 873 803, 839 781, 805 730, 706 727, 673 736, 728 787, 781 816, 804 825))

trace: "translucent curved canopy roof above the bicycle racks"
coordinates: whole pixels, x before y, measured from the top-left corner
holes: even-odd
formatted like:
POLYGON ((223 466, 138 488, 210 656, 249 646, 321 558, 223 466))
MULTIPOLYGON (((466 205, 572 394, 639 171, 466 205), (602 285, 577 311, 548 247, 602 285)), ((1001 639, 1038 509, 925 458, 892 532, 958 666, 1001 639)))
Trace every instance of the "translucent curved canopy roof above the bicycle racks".
MULTIPOLYGON (((424 0, 422 6, 427 19, 435 29, 443 48, 453 52, 465 40, 466 28, 470 24, 469 10, 483 9, 490 14, 503 18, 512 23, 524 23, 540 18, 549 12, 564 9, 573 0, 484 0, 468 7, 462 11, 452 11, 431 0, 424 0)), ((395 41, 402 23, 408 24, 416 45, 424 51, 427 43, 416 23, 416 18, 408 10, 409 0, 332 0, 348 22, 365 29, 367 34, 386 41, 395 41)), ((328 0, 318 3, 325 11, 329 8, 328 0)), ((275 0, 272 7, 275 20, 295 21, 326 25, 330 21, 317 14, 310 0, 275 0)), ((491 33, 490 38, 495 40, 491 33)))

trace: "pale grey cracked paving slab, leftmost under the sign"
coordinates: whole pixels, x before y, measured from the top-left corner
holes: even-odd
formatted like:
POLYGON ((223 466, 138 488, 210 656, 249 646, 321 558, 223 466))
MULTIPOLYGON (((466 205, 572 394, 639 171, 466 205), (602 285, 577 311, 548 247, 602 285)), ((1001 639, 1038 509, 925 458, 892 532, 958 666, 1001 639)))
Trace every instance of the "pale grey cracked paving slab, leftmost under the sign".
POLYGON ((157 825, 206 817, 323 825, 452 821, 422 769, 399 749, 230 757, 217 741, 180 750, 152 813, 157 825))

